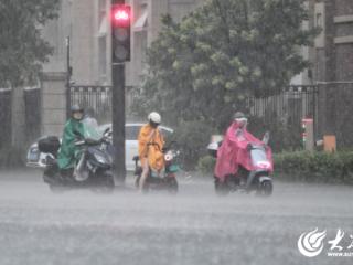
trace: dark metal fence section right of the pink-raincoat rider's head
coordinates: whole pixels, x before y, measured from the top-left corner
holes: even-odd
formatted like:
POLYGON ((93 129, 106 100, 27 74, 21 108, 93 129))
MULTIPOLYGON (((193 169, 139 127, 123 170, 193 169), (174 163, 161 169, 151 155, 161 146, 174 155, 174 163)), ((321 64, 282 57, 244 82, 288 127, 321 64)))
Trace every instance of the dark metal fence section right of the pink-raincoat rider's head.
POLYGON ((247 99, 253 116, 254 131, 269 130, 275 150, 302 148, 303 118, 314 121, 314 137, 318 134, 318 86, 288 86, 275 95, 247 99))

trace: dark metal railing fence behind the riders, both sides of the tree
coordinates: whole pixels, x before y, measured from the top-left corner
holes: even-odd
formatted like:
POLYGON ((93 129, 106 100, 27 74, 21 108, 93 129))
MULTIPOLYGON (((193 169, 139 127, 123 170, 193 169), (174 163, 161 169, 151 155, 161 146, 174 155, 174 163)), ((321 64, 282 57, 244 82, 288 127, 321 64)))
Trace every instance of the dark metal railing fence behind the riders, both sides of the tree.
MULTIPOLYGON (((94 110, 99 123, 111 119, 110 86, 71 86, 69 96, 72 105, 81 104, 86 109, 94 110)), ((302 147, 303 118, 312 118, 314 132, 318 131, 318 86, 288 86, 275 95, 248 98, 247 107, 252 114, 249 129, 261 132, 270 130, 275 150, 296 150, 302 147)))

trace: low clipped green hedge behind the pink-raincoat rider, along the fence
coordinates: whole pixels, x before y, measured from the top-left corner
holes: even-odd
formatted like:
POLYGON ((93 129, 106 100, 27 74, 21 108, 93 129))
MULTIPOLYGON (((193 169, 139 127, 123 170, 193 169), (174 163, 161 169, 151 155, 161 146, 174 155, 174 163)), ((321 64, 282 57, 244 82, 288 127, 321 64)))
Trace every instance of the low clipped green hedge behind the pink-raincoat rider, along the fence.
MULTIPOLYGON (((275 178, 286 181, 353 184, 353 151, 281 152, 274 155, 275 178)), ((213 173, 215 159, 205 156, 197 170, 203 176, 213 173)))

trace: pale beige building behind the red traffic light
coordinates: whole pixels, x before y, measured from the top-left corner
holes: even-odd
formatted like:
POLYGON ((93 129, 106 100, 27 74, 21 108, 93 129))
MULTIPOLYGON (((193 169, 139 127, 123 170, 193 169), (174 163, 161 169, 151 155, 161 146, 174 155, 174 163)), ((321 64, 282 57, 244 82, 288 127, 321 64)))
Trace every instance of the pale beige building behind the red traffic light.
MULTIPOLYGON (((127 64, 127 86, 138 86, 145 70, 147 47, 158 36, 161 15, 170 13, 180 21, 202 0, 126 0, 132 6, 133 23, 145 12, 142 29, 132 26, 131 63, 127 64)), ((60 17, 43 29, 54 54, 43 72, 66 71, 66 36, 71 38, 72 82, 79 85, 111 84, 110 73, 110 0, 62 0, 60 17)))

